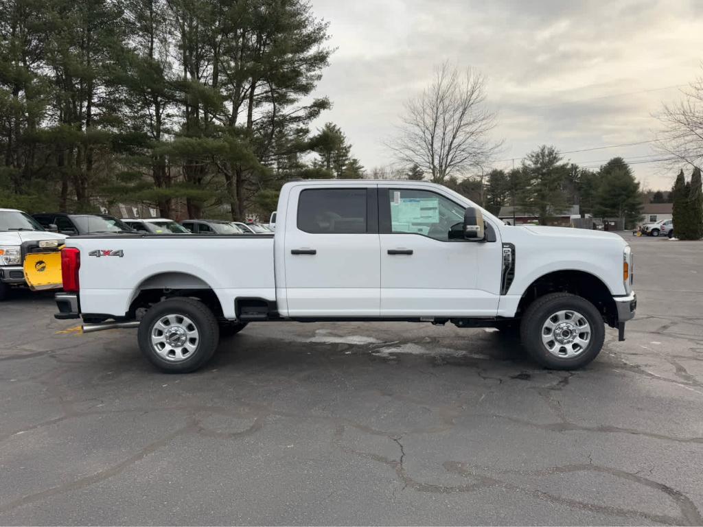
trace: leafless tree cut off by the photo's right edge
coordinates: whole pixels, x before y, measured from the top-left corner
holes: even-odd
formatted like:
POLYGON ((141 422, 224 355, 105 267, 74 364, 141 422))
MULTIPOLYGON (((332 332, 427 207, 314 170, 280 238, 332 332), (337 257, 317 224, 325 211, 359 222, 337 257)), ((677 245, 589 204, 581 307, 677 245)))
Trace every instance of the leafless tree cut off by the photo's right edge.
MULTIPOLYGON (((703 63, 702 63, 703 69, 703 63)), ((655 117, 662 123, 657 149, 666 157, 663 161, 692 167, 703 164, 703 77, 699 76, 688 88, 681 90, 683 99, 673 105, 662 105, 655 117)))

